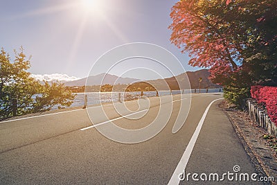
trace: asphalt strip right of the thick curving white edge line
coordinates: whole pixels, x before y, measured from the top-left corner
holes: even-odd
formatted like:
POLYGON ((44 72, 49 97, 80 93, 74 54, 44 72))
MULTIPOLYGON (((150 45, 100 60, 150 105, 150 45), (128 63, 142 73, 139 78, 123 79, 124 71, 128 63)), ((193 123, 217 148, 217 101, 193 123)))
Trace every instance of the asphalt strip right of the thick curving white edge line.
MULTIPOLYGON (((195 182, 192 179, 184 179, 181 184, 241 184, 240 179, 225 178, 226 173, 248 175, 257 174, 258 177, 265 177, 265 173, 260 173, 253 165, 251 157, 247 154, 233 129, 229 118, 218 107, 220 101, 217 101, 208 111, 202 130, 197 138, 192 155, 186 166, 185 174, 197 173, 206 174, 210 177, 217 174, 220 181, 214 179, 195 182), (238 168, 238 170, 237 170, 238 168)), ((250 176, 249 176, 250 177, 250 176)), ((251 179, 242 180, 242 184, 253 184, 251 179)), ((255 184, 264 184, 255 182, 255 184)))

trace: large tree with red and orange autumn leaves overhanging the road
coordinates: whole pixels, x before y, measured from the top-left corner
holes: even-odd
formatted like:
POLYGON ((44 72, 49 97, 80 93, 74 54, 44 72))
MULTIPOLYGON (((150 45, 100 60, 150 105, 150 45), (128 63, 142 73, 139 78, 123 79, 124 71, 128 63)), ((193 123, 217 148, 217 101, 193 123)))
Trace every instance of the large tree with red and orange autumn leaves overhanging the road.
POLYGON ((181 0, 170 17, 171 42, 190 65, 208 68, 233 103, 251 85, 277 85, 276 0, 181 0))

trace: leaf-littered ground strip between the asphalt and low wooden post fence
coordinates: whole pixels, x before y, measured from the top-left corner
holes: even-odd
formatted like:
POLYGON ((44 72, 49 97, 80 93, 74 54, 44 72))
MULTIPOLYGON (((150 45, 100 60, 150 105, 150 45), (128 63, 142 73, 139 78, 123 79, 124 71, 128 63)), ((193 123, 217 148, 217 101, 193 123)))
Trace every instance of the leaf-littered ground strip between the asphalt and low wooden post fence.
POLYGON ((220 107, 231 121, 242 146, 251 157, 259 173, 265 173, 267 177, 274 177, 275 182, 273 184, 276 184, 277 157, 274 149, 262 137, 267 135, 266 130, 253 123, 245 112, 228 107, 226 102, 220 103, 220 107))

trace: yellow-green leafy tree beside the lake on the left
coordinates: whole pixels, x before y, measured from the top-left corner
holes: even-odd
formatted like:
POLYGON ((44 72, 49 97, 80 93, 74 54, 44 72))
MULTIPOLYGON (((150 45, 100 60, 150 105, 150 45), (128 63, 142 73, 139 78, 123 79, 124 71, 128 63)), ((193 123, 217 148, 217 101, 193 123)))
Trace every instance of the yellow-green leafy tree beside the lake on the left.
POLYGON ((17 100, 17 115, 42 112, 54 105, 70 106, 74 95, 60 82, 39 83, 30 76, 30 58, 24 49, 15 51, 15 60, 1 49, 0 53, 0 119, 12 116, 12 100, 17 100), (37 96, 36 96, 37 95, 37 96), (36 97, 35 97, 36 96, 36 97))

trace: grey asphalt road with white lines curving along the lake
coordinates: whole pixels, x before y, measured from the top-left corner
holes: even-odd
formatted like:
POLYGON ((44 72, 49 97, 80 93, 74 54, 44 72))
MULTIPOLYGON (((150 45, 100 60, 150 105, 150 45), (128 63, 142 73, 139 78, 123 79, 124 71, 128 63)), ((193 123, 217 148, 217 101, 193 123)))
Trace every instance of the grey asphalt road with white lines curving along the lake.
MULTIPOLYGON (((121 117, 114 105, 105 105, 107 117, 98 114, 100 107, 94 106, 2 122, 0 184, 179 184, 180 170, 185 168, 185 176, 191 175, 180 184, 196 184, 193 173, 218 173, 221 177, 234 173, 233 166, 240 166, 238 175, 257 173, 229 119, 217 107, 222 94, 193 94, 186 122, 172 133, 177 116, 186 116, 179 114, 179 109, 182 104, 189 105, 187 96, 172 96, 161 103, 159 98, 150 98, 145 106, 130 101, 126 103, 129 112, 123 113, 127 118, 121 117), (110 120, 119 127, 140 129, 158 114, 166 115, 168 110, 161 111, 159 104, 172 105, 171 115, 163 130, 147 141, 118 143, 96 129, 108 126, 110 120), (87 112, 93 115, 93 126, 87 112)), ((224 184, 238 181, 225 176, 224 184)))

